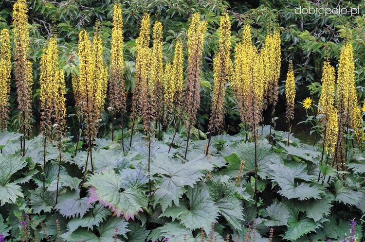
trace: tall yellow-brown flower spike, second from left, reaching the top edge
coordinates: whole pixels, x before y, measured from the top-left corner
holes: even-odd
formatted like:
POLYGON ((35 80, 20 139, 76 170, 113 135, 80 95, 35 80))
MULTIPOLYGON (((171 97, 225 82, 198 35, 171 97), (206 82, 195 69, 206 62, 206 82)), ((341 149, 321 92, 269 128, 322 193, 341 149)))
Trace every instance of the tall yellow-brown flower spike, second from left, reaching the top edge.
MULTIPOLYGON (((14 24, 14 77, 18 92, 18 122, 21 133, 27 135, 31 129, 32 117, 32 64, 29 61, 29 24, 26 0, 18 0, 13 6, 14 24)), ((25 140, 25 139, 24 139, 25 140)), ((25 147, 23 147, 23 154, 25 147)))

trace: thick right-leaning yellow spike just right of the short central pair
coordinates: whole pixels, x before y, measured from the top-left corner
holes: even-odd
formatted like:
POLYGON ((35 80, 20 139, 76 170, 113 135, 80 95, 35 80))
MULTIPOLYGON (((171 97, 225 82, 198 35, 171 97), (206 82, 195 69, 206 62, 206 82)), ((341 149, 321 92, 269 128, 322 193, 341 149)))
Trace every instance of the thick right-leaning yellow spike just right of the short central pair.
POLYGON ((186 126, 195 125, 200 106, 200 74, 207 22, 200 20, 200 14, 195 13, 187 31, 188 67, 186 82, 183 86, 184 113, 186 126))

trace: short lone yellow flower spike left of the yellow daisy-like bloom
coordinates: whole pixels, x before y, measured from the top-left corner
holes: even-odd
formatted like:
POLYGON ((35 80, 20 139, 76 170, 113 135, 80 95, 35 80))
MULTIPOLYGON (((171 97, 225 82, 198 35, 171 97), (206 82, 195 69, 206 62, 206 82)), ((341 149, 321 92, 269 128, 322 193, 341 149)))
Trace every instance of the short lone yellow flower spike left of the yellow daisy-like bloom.
POLYGON ((294 101, 295 101, 295 77, 292 61, 289 63, 289 70, 285 84, 285 95, 287 99, 286 116, 288 121, 294 118, 294 101))

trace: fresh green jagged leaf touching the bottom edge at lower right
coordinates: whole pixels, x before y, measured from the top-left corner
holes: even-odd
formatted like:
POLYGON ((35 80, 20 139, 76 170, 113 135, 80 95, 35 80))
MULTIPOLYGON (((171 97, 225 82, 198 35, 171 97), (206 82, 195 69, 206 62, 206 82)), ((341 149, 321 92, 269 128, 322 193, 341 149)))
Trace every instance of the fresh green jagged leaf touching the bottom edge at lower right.
POLYGON ((296 209, 290 211, 288 219, 288 230, 285 232, 284 240, 295 241, 301 236, 308 234, 309 232, 315 231, 319 227, 312 219, 302 218, 298 219, 296 209))

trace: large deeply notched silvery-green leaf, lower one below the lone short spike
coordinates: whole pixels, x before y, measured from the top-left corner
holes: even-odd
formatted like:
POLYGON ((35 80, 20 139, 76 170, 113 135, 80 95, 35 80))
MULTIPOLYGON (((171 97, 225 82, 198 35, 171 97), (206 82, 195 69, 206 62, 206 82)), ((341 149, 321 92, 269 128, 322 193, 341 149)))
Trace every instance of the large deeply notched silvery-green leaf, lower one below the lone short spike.
POLYGON ((320 199, 320 194, 324 193, 322 187, 319 185, 311 185, 302 182, 298 184, 294 179, 302 179, 311 181, 315 176, 307 174, 306 165, 301 163, 294 163, 289 166, 283 164, 270 165, 273 171, 272 179, 277 182, 281 190, 279 193, 288 199, 298 198, 299 200, 307 200, 309 198, 320 199))

